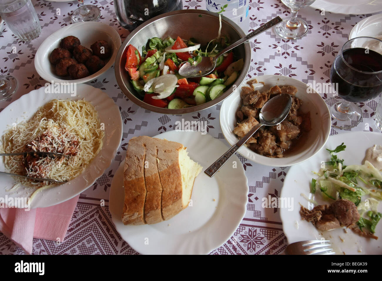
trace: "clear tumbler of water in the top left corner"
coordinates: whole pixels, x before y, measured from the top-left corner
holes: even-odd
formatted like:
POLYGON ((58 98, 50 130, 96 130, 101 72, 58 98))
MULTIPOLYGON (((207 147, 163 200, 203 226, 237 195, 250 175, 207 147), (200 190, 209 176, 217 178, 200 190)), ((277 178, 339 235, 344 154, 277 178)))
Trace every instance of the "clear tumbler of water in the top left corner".
POLYGON ((0 0, 0 16, 19 39, 39 37, 41 26, 31 0, 0 0))

